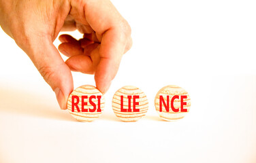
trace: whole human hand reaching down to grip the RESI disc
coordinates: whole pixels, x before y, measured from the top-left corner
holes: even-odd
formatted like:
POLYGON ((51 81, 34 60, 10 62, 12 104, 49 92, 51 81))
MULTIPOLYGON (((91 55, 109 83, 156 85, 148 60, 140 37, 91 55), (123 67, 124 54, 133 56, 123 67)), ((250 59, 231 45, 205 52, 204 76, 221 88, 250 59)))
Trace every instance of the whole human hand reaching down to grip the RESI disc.
POLYGON ((71 71, 95 74, 105 93, 132 44, 129 24, 109 0, 0 0, 0 24, 54 90, 61 109, 74 90, 71 71), (59 37, 59 51, 69 57, 64 62, 52 42, 60 31, 76 29, 82 39, 59 37))

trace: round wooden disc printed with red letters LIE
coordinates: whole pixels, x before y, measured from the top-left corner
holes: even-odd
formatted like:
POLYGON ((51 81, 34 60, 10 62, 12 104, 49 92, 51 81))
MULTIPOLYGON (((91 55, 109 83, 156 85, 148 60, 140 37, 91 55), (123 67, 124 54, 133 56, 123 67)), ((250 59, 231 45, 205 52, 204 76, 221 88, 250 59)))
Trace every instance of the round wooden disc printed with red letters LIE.
POLYGON ((112 109, 116 117, 124 122, 135 122, 146 115, 148 99, 135 86, 124 86, 116 91, 112 99, 112 109))

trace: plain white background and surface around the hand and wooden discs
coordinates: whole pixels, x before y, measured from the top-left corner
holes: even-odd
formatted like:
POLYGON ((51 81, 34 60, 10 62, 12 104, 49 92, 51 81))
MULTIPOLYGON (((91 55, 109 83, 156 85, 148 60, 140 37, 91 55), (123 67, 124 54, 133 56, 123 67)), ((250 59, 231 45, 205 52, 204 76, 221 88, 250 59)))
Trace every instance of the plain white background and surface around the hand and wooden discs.
MULTIPOLYGON (((0 162, 256 162, 255 1, 112 3, 131 25, 133 47, 91 123, 59 109, 29 57, 0 31, 0 162), (169 84, 191 96, 177 122, 162 121, 154 107, 169 84), (148 96, 138 122, 112 111, 125 85, 148 96)), ((95 85, 93 75, 73 75, 75 88, 95 85)))

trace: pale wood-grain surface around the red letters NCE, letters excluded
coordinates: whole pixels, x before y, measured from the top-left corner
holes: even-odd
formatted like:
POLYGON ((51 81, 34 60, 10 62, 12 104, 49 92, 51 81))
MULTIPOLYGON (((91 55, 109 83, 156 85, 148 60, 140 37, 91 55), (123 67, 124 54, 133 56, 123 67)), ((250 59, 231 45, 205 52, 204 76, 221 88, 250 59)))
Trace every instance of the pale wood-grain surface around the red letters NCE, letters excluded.
MULTIPOLYGON (((174 107, 180 108, 180 99, 174 100, 174 107)), ((161 88, 161 90, 159 90, 159 92, 157 92, 157 95, 155 96, 155 109, 157 110, 157 113, 159 113, 159 116, 166 121, 176 121, 176 120, 182 119, 189 112, 190 107, 191 107, 191 99, 188 92, 179 86, 174 86, 174 85, 165 86, 161 88), (163 99, 166 103, 167 95, 169 95, 170 97, 170 101, 169 101, 170 110, 169 112, 167 112, 165 107, 163 106, 162 111, 160 112, 159 96, 163 96, 163 99), (180 112, 180 110, 178 112, 172 111, 171 99, 172 99, 172 96, 175 96, 175 95, 178 95, 178 96, 187 95, 187 98, 184 99, 184 102, 187 103, 187 105, 184 106, 184 108, 187 109, 187 112, 180 112)))

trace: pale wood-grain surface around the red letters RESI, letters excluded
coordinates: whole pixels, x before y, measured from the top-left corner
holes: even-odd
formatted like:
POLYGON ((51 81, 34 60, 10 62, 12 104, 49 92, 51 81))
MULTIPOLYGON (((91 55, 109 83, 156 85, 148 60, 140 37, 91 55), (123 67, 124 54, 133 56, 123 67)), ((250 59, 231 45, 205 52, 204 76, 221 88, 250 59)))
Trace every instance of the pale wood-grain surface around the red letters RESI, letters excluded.
MULTIPOLYGON (((92 101, 95 103, 96 107, 98 108, 98 99, 97 98, 93 98, 92 101)), ((95 86, 89 86, 89 85, 84 85, 84 86, 80 86, 78 88, 76 88, 76 90, 74 90, 68 98, 67 101, 67 110, 69 111, 69 113, 76 118, 76 120, 80 121, 80 122, 91 122, 95 119, 97 119, 103 109, 105 107, 105 98, 102 95, 101 92, 99 92, 99 90, 97 90, 97 88, 95 88, 95 86), (101 111, 97 112, 97 109, 95 112, 82 112, 81 111, 81 107, 82 107, 82 96, 88 96, 88 98, 84 99, 84 102, 87 103, 87 105, 84 105, 84 109, 92 109, 93 105, 91 105, 89 103, 89 97, 95 95, 95 96, 101 96, 100 99, 100 108, 101 111), (74 111, 72 111, 72 103, 71 103, 71 97, 72 96, 78 96, 79 97, 79 103, 78 103, 78 107, 80 108, 80 112, 78 112, 78 110, 74 109, 74 111)))

